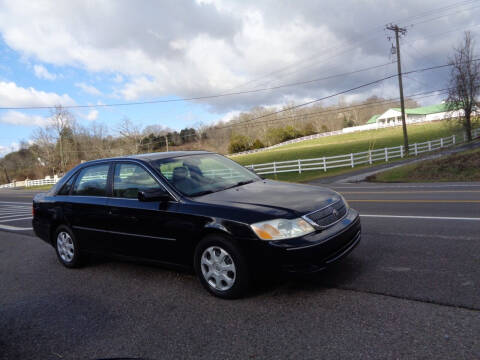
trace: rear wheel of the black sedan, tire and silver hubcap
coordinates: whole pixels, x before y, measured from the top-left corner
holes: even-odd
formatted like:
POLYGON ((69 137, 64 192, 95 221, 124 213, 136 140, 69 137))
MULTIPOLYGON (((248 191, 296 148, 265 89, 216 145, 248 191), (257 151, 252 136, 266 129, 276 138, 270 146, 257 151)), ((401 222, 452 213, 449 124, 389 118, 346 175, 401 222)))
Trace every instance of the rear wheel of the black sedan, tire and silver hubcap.
POLYGON ((68 268, 76 268, 81 265, 80 244, 68 226, 61 225, 55 230, 53 245, 62 265, 68 268))

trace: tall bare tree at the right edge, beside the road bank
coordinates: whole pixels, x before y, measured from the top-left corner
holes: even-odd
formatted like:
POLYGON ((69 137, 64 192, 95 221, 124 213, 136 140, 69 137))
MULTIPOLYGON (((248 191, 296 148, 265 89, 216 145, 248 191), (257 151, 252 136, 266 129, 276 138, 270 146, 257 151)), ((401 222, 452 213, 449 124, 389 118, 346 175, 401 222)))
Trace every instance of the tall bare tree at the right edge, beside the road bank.
POLYGON ((459 119, 465 129, 468 141, 472 141, 471 116, 477 107, 480 62, 475 59, 474 41, 469 31, 465 32, 462 44, 458 48, 454 48, 450 65, 452 71, 447 109, 450 113, 459 109, 464 111, 463 118, 459 119))

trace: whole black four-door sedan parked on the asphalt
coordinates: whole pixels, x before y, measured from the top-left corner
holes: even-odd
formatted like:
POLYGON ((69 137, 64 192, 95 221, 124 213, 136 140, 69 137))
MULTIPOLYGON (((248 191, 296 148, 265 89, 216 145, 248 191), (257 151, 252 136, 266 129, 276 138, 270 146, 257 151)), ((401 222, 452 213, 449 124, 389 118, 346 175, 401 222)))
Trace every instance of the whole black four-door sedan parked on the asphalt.
POLYGON ((318 271, 360 242, 359 215, 338 193, 204 151, 80 164, 34 198, 33 228, 66 267, 88 253, 193 267, 223 298, 257 271, 318 271))

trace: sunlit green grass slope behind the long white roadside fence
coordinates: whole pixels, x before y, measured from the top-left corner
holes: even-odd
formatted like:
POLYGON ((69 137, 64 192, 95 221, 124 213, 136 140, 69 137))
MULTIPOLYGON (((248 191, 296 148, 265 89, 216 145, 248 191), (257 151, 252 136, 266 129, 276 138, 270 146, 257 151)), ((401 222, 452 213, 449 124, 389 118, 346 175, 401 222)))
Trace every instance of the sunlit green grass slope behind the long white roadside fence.
MULTIPOLYGON (((462 136, 457 122, 439 121, 428 124, 408 125, 408 138, 411 144, 424 142, 456 134, 462 136)), ((460 138, 457 137, 458 140, 460 138)), ((461 138, 463 140, 463 136, 461 138)), ((458 141, 457 140, 457 141, 458 141)), ((335 156, 366 150, 381 149, 403 144, 402 127, 362 131, 358 133, 328 136, 320 139, 306 140, 297 144, 289 144, 272 150, 255 154, 231 156, 232 160, 242 164, 261 164, 273 161, 317 158, 335 156)), ((321 173, 317 172, 317 173, 321 173)), ((314 173, 314 172, 312 172, 314 173)), ((334 174, 327 171, 328 175, 334 174)), ((283 176, 283 175, 282 175, 283 176)), ((288 176, 287 176, 288 177, 288 176)), ((317 176, 318 177, 318 176, 317 176)))

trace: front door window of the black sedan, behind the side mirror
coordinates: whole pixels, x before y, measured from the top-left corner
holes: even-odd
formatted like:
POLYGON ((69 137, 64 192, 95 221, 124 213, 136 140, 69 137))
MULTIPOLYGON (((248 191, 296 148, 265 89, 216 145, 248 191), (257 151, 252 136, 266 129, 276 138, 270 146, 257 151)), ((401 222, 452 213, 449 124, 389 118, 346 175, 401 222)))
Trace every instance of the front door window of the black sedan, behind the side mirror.
POLYGON ((139 190, 161 189, 155 179, 136 164, 119 163, 115 165, 113 178, 113 196, 136 199, 139 190))

